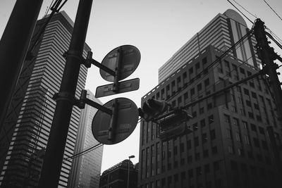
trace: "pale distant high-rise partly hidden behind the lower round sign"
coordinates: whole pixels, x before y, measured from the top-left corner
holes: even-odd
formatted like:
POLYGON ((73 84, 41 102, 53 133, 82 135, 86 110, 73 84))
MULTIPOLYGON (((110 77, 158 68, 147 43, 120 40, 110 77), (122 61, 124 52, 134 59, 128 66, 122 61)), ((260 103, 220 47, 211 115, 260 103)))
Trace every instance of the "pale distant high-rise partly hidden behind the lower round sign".
MULTIPOLYGON (((94 94, 87 90, 87 99, 102 104, 94 94)), ((75 153, 80 153, 91 146, 99 144, 92 134, 92 120, 97 109, 85 105, 80 113, 80 124, 78 125, 78 136, 75 143, 75 153)), ((99 179, 102 166, 103 146, 97 147, 94 151, 85 153, 73 159, 71 175, 68 179, 68 187, 99 187, 99 179)))

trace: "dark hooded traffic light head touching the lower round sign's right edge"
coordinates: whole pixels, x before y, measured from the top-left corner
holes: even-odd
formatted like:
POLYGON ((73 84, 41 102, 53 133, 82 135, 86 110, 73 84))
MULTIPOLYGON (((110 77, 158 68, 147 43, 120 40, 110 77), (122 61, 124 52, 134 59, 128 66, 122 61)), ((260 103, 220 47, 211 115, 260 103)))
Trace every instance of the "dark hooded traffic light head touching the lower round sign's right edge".
POLYGON ((156 99, 148 99, 142 106, 139 108, 140 117, 144 118, 147 121, 154 120, 157 116, 164 113, 168 108, 168 103, 166 101, 159 101, 156 99))

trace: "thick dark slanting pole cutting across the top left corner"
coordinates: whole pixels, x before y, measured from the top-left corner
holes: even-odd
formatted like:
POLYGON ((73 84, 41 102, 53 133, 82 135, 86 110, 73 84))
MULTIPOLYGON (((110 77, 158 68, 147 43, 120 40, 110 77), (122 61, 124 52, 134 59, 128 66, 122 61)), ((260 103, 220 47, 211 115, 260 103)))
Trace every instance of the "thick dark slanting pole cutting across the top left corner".
POLYGON ((43 0, 18 0, 0 42, 0 130, 27 54, 43 0))

